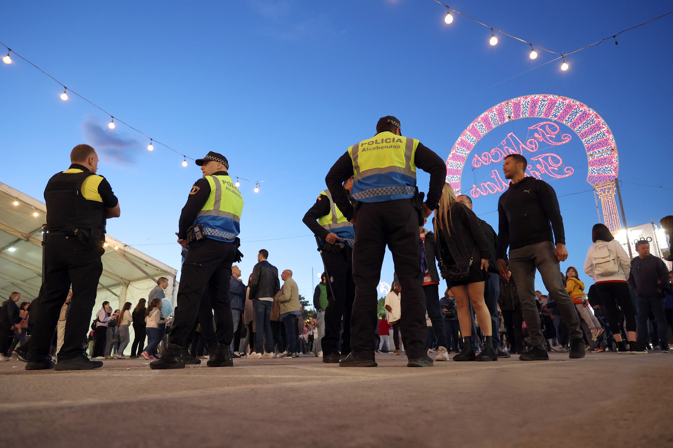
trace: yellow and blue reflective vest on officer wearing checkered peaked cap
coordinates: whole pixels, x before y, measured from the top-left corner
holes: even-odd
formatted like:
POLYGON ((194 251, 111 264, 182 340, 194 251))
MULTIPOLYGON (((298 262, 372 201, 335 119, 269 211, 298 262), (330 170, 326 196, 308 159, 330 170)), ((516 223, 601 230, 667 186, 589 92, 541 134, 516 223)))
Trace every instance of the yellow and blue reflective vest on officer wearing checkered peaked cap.
POLYGON ((198 222, 203 225, 203 233, 208 237, 234 241, 240 233, 243 197, 229 176, 216 174, 206 176, 205 179, 210 184, 211 192, 194 224, 198 222))

